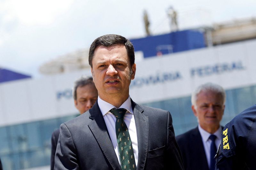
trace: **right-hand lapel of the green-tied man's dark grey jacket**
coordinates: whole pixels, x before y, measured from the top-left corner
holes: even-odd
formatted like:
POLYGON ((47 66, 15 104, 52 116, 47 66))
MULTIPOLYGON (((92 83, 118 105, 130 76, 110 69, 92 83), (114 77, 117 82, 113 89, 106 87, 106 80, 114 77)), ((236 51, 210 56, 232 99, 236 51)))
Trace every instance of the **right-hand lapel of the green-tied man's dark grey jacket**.
POLYGON ((149 132, 149 122, 148 116, 144 115, 144 110, 138 106, 136 103, 132 102, 132 110, 135 119, 137 140, 138 140, 138 165, 137 169, 144 169, 147 153, 148 153, 148 132, 149 132))

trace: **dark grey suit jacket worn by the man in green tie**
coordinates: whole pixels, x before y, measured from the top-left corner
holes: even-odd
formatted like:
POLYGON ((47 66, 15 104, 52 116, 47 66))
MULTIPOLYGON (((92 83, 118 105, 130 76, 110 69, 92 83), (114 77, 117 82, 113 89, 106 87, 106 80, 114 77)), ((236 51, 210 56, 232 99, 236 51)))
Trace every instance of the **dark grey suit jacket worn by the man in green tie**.
MULTIPOLYGON (((137 169, 183 169, 169 111, 132 101, 138 138, 137 169)), ((56 170, 121 170, 98 102, 79 117, 60 125, 56 170)))

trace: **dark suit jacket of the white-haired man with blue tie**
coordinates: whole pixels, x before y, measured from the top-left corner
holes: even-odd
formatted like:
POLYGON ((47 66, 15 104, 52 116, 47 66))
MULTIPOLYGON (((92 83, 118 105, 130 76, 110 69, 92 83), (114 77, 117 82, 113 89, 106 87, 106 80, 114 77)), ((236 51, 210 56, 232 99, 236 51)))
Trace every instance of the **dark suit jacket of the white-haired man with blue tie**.
POLYGON ((176 137, 185 170, 209 170, 198 127, 176 137))

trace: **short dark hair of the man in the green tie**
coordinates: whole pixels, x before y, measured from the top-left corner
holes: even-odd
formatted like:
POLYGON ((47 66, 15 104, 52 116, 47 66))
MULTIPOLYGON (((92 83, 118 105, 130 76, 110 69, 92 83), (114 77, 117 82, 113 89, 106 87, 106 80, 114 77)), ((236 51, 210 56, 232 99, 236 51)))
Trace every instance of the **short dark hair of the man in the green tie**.
POLYGON ((92 45, 90 47, 89 50, 89 64, 92 67, 92 58, 94 55, 94 50, 98 47, 98 46, 114 46, 114 45, 124 45, 127 51, 127 55, 130 59, 130 64, 131 67, 134 64, 134 48, 133 45, 131 43, 131 41, 129 39, 124 38, 121 35, 116 35, 116 34, 107 34, 107 35, 103 35, 97 39, 95 39, 92 42, 92 45))

